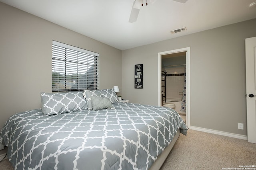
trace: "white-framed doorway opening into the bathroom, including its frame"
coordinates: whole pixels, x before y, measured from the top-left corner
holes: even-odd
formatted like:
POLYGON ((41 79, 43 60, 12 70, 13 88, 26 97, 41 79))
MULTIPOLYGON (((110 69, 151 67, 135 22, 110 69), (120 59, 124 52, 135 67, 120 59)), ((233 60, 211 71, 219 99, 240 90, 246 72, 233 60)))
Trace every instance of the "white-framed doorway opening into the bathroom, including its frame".
POLYGON ((158 105, 175 107, 174 110, 186 120, 188 128, 190 128, 189 61, 190 47, 158 53, 158 105))

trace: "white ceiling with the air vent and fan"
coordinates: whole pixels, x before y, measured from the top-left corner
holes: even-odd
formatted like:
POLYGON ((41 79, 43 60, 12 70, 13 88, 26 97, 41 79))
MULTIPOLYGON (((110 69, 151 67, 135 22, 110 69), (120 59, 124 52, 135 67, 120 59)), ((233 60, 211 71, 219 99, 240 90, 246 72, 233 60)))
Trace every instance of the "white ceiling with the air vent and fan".
POLYGON ((256 18, 256 0, 148 0, 129 23, 133 0, 0 0, 120 50, 256 18), (172 34, 173 29, 187 31, 172 34))

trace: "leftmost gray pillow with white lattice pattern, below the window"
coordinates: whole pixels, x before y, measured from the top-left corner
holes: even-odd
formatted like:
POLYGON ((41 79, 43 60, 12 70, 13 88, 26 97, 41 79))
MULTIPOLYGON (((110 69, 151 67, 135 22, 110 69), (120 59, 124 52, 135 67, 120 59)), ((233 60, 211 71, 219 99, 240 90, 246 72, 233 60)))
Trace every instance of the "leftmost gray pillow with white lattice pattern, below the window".
POLYGON ((42 112, 56 115, 87 108, 82 92, 44 93, 41 92, 42 112))

